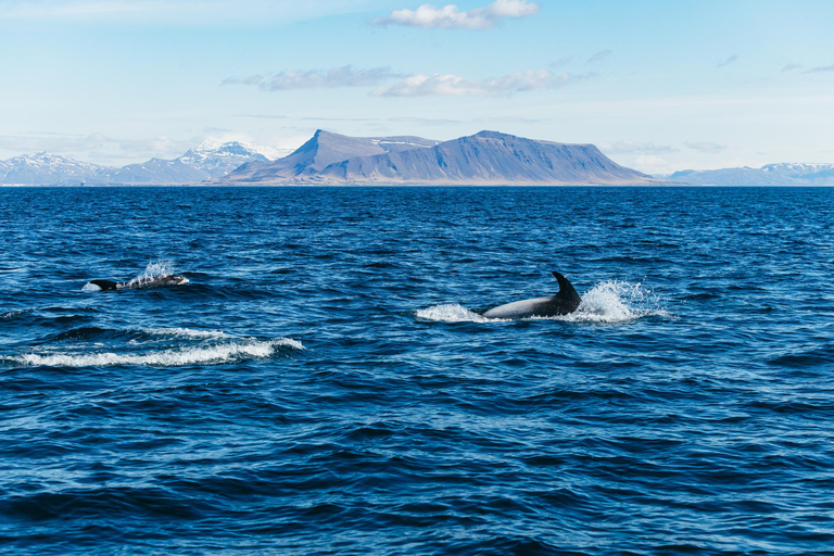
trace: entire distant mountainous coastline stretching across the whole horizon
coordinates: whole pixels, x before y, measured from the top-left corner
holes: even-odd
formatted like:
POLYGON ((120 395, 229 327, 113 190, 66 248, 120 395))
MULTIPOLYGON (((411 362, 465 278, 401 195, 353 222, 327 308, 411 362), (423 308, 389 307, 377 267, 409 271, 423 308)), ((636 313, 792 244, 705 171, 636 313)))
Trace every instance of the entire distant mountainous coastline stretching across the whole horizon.
POLYGON ((652 176, 593 144, 481 131, 450 141, 317 130, 270 160, 240 142, 122 168, 46 152, 0 161, 0 187, 829 187, 834 164, 681 170, 652 176))

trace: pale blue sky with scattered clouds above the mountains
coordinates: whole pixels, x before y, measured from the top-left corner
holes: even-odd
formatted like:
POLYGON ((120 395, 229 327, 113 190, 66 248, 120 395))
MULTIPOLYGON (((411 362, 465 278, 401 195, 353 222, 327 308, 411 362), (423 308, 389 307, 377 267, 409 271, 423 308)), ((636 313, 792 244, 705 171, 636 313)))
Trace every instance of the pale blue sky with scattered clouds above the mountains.
POLYGON ((0 0, 0 160, 316 129, 593 143, 652 174, 834 162, 830 0, 0 0))

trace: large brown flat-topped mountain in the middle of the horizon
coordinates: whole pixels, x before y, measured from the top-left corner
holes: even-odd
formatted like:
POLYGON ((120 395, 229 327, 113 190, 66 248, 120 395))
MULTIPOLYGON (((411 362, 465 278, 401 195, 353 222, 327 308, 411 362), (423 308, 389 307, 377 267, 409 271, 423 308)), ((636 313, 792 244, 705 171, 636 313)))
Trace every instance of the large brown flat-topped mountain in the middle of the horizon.
POLYGON ((299 150, 248 164, 224 182, 362 184, 652 184, 593 144, 566 144, 481 131, 445 142, 413 137, 353 138, 316 131, 299 150), (381 151, 381 152, 380 152, 381 151))

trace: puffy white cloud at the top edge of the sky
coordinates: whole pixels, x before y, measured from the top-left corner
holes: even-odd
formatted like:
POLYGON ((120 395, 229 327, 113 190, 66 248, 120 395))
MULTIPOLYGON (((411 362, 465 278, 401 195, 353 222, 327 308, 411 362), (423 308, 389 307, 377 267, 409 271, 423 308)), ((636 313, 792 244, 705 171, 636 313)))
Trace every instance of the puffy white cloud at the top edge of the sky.
POLYGON ((483 7, 462 12, 457 5, 435 8, 422 4, 417 10, 394 10, 388 17, 379 17, 375 25, 405 25, 408 27, 446 29, 485 29, 506 17, 527 17, 539 13, 541 5, 527 0, 495 0, 483 7))

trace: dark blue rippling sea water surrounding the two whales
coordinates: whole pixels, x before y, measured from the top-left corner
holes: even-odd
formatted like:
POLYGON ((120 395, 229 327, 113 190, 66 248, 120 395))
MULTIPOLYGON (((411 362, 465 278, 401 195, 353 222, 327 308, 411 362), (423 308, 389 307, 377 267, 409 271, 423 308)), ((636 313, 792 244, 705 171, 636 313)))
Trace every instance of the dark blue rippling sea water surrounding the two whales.
POLYGON ((834 554, 834 189, 5 188, 0 255, 9 554, 834 554))

